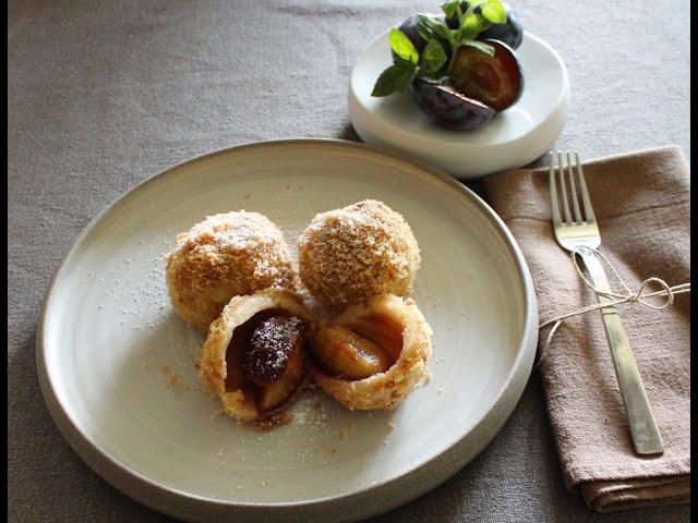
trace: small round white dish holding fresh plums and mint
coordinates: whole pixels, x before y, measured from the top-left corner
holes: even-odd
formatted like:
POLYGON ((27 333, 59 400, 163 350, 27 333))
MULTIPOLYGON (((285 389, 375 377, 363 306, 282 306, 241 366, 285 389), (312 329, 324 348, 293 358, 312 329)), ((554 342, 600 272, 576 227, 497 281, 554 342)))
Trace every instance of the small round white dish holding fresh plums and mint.
POLYGON ((409 93, 371 96, 376 78, 390 64, 387 35, 365 48, 351 72, 349 118, 365 143, 470 179, 525 166, 559 136, 569 105, 567 70, 557 52, 537 36, 525 33, 516 50, 525 78, 519 101, 482 127, 462 132, 436 126, 409 93))

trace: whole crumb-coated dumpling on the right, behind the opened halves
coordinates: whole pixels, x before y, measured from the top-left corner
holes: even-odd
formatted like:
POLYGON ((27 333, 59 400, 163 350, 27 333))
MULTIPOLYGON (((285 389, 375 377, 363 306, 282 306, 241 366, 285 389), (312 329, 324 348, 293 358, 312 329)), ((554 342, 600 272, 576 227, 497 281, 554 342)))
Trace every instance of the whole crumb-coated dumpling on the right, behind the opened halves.
POLYGON ((401 215, 366 199, 315 216, 298 240, 300 278, 323 305, 340 309, 369 296, 408 295, 419 245, 401 215))

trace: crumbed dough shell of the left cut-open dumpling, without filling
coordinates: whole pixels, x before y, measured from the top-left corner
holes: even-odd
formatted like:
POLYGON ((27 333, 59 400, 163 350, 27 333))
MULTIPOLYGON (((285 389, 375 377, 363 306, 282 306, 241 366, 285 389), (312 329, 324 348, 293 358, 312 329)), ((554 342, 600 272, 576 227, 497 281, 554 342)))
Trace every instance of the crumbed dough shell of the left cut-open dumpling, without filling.
POLYGON ((242 389, 226 391, 226 351, 233 330, 256 313, 269 308, 282 308, 293 316, 312 321, 311 312, 292 291, 281 288, 265 289, 246 296, 234 296, 220 316, 208 327, 206 343, 198 362, 201 378, 213 394, 220 398, 224 412, 241 422, 260 418, 260 412, 250 394, 242 389))

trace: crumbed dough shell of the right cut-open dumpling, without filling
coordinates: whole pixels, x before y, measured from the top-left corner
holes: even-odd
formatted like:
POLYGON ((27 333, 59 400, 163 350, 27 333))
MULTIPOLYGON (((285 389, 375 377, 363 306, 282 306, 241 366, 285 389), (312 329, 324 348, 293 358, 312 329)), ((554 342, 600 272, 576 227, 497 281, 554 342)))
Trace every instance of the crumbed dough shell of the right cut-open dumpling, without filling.
POLYGON ((394 295, 371 297, 352 305, 333 324, 350 325, 369 313, 385 314, 402 326, 402 351, 395 364, 385 373, 357 381, 329 376, 316 367, 312 368, 312 375, 323 391, 351 410, 389 411, 428 377, 432 329, 414 300, 394 295))

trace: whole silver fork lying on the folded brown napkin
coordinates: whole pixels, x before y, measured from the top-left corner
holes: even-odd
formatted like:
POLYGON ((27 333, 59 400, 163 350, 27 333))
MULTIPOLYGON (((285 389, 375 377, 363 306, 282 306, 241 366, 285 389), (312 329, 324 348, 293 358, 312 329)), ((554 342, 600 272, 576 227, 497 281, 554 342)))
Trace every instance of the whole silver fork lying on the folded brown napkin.
MULTIPOLYGON (((567 169, 563 163, 562 153, 557 154, 557 172, 553 167, 553 154, 550 154, 550 204, 553 215, 553 228, 557 243, 566 251, 577 253, 583 263, 591 282, 602 292, 611 292, 609 280, 603 271, 603 266, 594 255, 594 250, 601 245, 599 226, 591 207, 589 191, 579 161, 579 154, 575 153, 575 170, 578 180, 579 196, 573 174, 573 165, 569 153, 567 156, 567 169), (565 171, 569 182, 569 191, 565 182, 565 171), (557 188, 559 180, 559 192, 557 188), (571 209, 569 206, 571 202, 571 209), (561 205, 562 204, 562 205, 561 205), (561 206, 563 215, 561 216, 561 206), (582 216, 583 211, 583 216, 582 216)), ((599 303, 607 303, 612 300, 597 294, 599 303)), ((614 306, 601 309, 603 325, 606 330, 611 356, 615 368, 616 379, 621 389, 621 398, 628 418, 630 435, 635 451, 638 454, 662 454, 664 445, 662 436, 657 427, 652 408, 647 399, 645 386, 640 378, 628 338, 623 329, 621 317, 614 306)))

